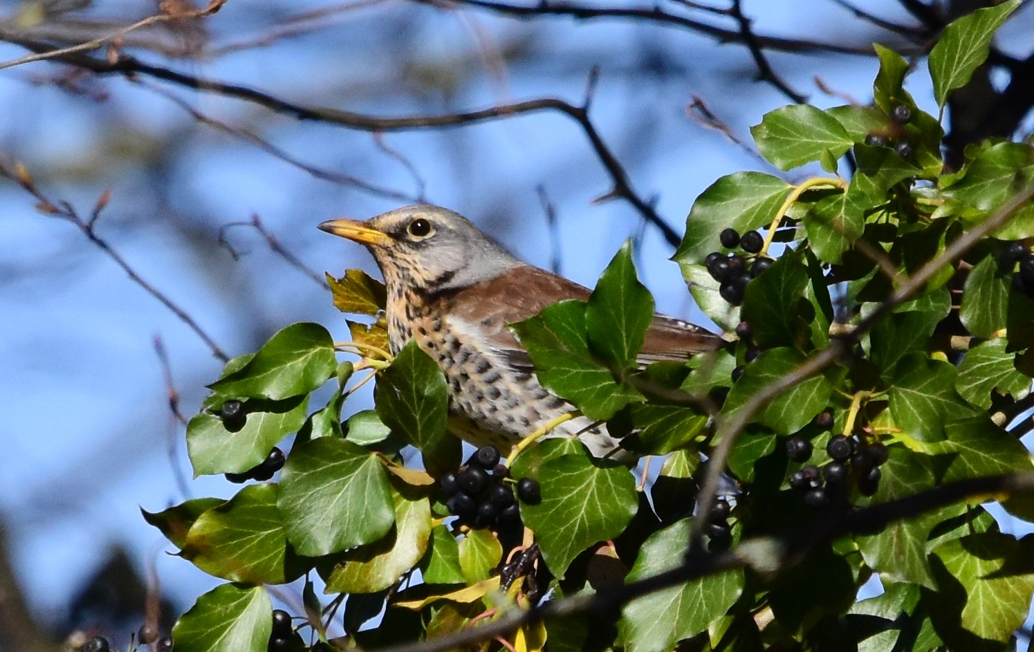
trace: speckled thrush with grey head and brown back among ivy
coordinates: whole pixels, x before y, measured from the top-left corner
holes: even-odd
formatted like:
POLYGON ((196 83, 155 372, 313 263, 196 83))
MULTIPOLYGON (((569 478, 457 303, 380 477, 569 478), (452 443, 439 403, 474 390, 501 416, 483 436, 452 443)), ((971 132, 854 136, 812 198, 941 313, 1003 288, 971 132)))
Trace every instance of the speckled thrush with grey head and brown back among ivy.
MULTIPOLYGON (((539 382, 530 356, 508 324, 591 290, 525 263, 459 213, 415 205, 366 221, 333 219, 320 229, 364 245, 387 286, 391 353, 415 339, 445 374, 449 429, 475 446, 509 451, 574 407, 539 382)), ((688 361, 725 344, 720 336, 655 313, 640 364, 688 361)), ((603 423, 577 416, 547 436, 578 437, 596 457, 619 439, 603 423)))

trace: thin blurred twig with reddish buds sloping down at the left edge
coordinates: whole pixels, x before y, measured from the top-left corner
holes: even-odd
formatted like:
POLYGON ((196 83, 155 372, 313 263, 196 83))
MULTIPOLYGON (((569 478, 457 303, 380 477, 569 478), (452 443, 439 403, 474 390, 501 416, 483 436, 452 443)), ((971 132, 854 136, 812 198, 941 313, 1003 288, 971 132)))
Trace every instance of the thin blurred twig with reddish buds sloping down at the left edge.
POLYGON ((180 321, 193 331, 197 337, 205 342, 209 349, 211 349, 213 355, 222 362, 230 360, 230 356, 226 355, 222 349, 219 348, 218 344, 215 343, 215 340, 213 340, 212 337, 206 333, 196 321, 194 321, 193 317, 191 317, 177 304, 173 303, 173 301, 159 289, 145 281, 107 240, 97 235, 95 227, 97 220, 100 218, 101 211, 103 211, 104 207, 108 206, 108 200, 111 197, 109 192, 105 191, 100 198, 97 199, 96 205, 93 207, 93 211, 90 213, 90 217, 84 218, 80 216, 75 209, 73 209, 67 201, 51 200, 48 196, 45 196, 38 188, 36 188, 35 183, 32 181, 32 177, 29 176, 29 173, 22 167, 21 164, 16 165, 16 168, 12 170, 9 169, 3 162, 0 162, 0 177, 10 179, 29 194, 34 196, 38 201, 36 209, 41 213, 74 224, 83 232, 83 235, 86 236, 87 240, 103 251, 109 258, 111 258, 122 269, 123 272, 126 273, 126 275, 129 276, 129 279, 133 283, 142 287, 151 297, 157 299, 161 305, 172 311, 172 313, 175 314, 180 321))

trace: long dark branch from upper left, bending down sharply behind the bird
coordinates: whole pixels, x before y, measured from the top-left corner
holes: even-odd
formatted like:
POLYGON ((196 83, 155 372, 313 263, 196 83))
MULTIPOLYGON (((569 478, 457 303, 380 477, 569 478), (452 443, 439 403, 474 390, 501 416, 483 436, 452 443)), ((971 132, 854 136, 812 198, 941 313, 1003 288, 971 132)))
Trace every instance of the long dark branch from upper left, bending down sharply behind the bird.
MULTIPOLYGON (((2 27, 0 27, 0 39, 33 51, 50 51, 50 46, 48 44, 6 33, 2 27)), ((585 136, 588 138, 592 150, 596 152, 597 158, 600 159, 600 162, 610 176, 613 188, 609 192, 605 193, 603 197, 620 197, 631 204, 642 215, 643 219, 645 219, 647 223, 661 231, 664 239, 668 241, 668 244, 672 247, 677 247, 678 243, 681 241, 678 234, 675 232, 675 230, 661 218, 653 207, 639 196, 639 194, 632 187, 632 182, 629 179, 628 172, 626 172, 625 167, 621 165, 620 161, 617 160, 617 157, 614 156, 613 152, 610 151, 610 148, 607 147, 607 144, 603 142, 603 137, 600 135, 600 132, 596 129, 591 120, 589 120, 587 101, 580 106, 576 106, 561 99, 544 97, 514 102, 511 104, 500 104, 480 111, 445 114, 438 116, 378 118, 337 108, 296 104, 244 86, 203 80, 184 72, 177 72, 169 68, 146 64, 126 55, 120 56, 114 61, 108 61, 80 53, 70 53, 55 57, 55 60, 85 68, 98 74, 124 74, 127 76, 132 76, 133 74, 146 74, 148 76, 178 84, 186 88, 216 93, 218 95, 224 95, 226 97, 233 97, 258 104, 275 113, 292 116, 299 120, 312 120, 326 124, 336 124, 363 131, 376 132, 448 128, 477 124, 491 120, 501 120, 523 114, 533 114, 544 111, 559 112, 578 123, 582 131, 585 133, 585 136)))

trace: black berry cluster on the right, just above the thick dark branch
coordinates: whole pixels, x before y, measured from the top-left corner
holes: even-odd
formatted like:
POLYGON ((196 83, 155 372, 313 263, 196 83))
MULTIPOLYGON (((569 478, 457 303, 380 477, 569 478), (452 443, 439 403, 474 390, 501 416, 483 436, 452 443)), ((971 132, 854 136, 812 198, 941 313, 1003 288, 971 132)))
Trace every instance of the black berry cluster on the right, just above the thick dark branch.
MULTIPOLYGON (((830 415, 830 426, 831 421, 830 415)), ((790 437, 786 453, 794 462, 807 462, 812 457, 812 443, 802 437, 790 437)), ((882 475, 880 465, 887 461, 885 445, 862 444, 854 437, 835 435, 826 444, 826 455, 830 461, 822 468, 809 464, 790 474, 790 487, 804 493, 805 503, 822 506, 830 500, 844 502, 852 478, 858 493, 863 496, 876 493, 882 475)))

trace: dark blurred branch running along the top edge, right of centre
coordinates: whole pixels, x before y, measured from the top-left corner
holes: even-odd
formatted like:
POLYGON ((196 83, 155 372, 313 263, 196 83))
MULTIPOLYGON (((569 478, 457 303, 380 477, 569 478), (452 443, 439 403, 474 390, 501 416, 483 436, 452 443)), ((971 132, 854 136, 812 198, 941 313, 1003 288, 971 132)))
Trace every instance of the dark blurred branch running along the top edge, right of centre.
MULTIPOLYGON (((567 15, 578 20, 594 19, 631 19, 637 21, 647 21, 651 23, 662 23, 675 27, 682 27, 694 32, 698 32, 713 37, 722 43, 742 42, 743 35, 738 29, 727 29, 703 23, 683 15, 677 15, 665 11, 660 6, 648 8, 626 8, 626 7, 602 7, 584 4, 571 4, 564 1, 537 2, 534 5, 521 6, 496 2, 495 0, 413 0, 420 4, 438 4, 439 2, 450 2, 472 7, 488 9, 497 13, 513 15, 520 19, 534 19, 543 15, 567 15)), ((716 12, 708 9, 709 12, 716 12)), ((832 52, 846 55, 873 56, 872 48, 864 45, 843 45, 839 43, 823 43, 814 40, 801 40, 796 38, 781 38, 779 36, 757 36, 757 41, 765 50, 780 52, 807 53, 807 52, 832 52)))

